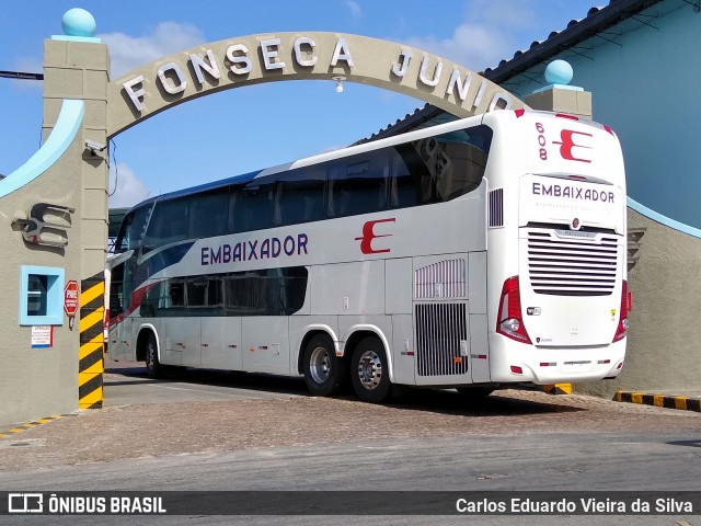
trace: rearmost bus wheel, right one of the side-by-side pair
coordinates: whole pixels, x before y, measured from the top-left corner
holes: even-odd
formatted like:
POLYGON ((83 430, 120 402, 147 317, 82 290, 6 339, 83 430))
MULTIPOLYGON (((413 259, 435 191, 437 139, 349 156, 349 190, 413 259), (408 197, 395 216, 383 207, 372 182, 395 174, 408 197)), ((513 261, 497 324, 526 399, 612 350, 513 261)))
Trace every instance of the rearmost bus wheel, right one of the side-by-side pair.
POLYGON ((350 378, 355 393, 364 402, 381 403, 392 393, 384 345, 375 336, 360 340, 353 353, 350 378))

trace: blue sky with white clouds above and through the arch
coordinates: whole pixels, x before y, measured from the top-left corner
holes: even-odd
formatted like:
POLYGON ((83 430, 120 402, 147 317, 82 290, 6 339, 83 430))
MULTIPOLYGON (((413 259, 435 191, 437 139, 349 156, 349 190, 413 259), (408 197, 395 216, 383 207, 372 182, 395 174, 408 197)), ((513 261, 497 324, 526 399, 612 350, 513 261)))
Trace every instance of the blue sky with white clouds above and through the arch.
MULTIPOLYGON (((43 72, 44 39, 82 8, 107 45, 112 78, 210 42, 285 31, 352 33, 407 44, 474 71, 496 67, 605 0, 25 0, 3 2, 0 70, 43 72)), ((576 84, 576 71, 573 83, 576 84)), ((43 82, 0 78, 0 174, 39 147, 43 82)), ((110 206, 348 146, 423 107, 379 88, 273 82, 174 106, 113 138, 110 206)))

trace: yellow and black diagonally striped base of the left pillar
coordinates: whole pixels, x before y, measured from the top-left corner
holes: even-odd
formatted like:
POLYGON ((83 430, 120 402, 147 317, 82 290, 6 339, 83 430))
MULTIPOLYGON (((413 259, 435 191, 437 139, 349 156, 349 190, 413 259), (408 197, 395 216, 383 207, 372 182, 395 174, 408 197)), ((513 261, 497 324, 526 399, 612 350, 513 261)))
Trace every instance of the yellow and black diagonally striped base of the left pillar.
POLYGON ((78 366, 78 407, 80 409, 100 409, 103 404, 104 297, 104 273, 95 274, 80 283, 80 363, 78 366))

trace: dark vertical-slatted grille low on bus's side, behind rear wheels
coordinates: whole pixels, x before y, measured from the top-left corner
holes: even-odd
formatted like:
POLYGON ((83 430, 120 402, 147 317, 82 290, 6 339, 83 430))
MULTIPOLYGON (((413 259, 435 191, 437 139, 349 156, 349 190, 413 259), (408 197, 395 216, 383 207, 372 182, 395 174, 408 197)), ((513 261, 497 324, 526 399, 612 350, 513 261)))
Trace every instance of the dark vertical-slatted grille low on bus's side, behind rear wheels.
POLYGON ((418 376, 462 375, 468 370, 466 304, 416 304, 418 376))

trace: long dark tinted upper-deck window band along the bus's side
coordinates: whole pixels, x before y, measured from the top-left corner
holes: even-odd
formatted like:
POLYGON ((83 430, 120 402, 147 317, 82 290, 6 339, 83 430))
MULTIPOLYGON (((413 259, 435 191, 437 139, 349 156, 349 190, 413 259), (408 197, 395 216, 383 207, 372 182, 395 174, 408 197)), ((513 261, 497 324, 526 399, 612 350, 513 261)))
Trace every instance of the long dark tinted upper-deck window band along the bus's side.
MULTIPOLYGON (((143 245, 450 201, 480 185, 491 141, 492 130, 475 126, 159 201, 143 245)), ((127 215, 119 250, 139 244, 146 219, 146 208, 127 215)))

